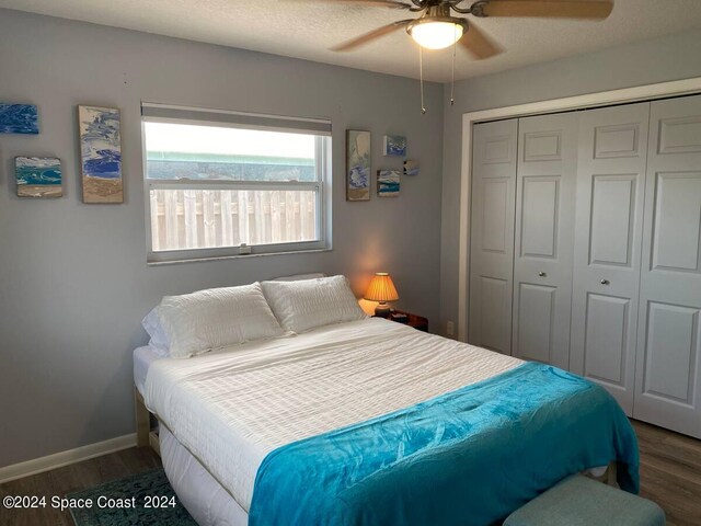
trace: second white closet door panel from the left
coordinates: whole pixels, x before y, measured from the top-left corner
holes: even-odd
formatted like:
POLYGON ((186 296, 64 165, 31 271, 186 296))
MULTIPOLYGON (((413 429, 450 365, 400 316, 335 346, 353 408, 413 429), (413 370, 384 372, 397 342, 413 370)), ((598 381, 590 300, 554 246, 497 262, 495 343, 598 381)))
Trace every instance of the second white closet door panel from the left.
POLYGON ((577 114, 521 118, 518 135, 513 351, 566 369, 577 114))

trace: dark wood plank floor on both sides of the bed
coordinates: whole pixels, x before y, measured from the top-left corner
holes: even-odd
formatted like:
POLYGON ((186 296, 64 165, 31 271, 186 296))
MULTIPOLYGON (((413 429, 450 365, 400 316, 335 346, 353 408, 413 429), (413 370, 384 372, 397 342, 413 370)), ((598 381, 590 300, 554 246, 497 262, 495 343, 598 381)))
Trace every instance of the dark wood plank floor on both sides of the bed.
MULTIPOLYGON (((641 494, 659 504, 669 526, 701 526, 701 441, 633 421, 640 442, 641 494)), ((130 448, 0 485, 5 495, 59 495, 91 488, 160 466, 150 448, 130 448)), ((0 525, 71 526, 68 512, 9 511, 0 506, 0 525)), ((604 525, 601 525, 604 526, 604 525)))

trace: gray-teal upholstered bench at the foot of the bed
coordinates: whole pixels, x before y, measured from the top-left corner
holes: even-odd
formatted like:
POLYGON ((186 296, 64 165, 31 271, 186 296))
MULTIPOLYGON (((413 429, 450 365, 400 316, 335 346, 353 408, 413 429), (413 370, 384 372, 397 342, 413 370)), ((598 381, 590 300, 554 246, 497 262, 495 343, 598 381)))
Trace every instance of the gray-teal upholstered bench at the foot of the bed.
POLYGON ((652 501, 575 474, 512 513, 504 526, 665 526, 652 501))

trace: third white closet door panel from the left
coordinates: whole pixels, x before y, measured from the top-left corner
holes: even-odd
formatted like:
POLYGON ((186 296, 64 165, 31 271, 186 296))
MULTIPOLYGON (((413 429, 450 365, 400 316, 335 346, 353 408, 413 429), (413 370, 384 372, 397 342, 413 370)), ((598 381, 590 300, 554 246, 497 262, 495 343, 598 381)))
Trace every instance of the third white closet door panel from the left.
POLYGON ((633 411, 650 103, 582 112, 570 366, 633 411))

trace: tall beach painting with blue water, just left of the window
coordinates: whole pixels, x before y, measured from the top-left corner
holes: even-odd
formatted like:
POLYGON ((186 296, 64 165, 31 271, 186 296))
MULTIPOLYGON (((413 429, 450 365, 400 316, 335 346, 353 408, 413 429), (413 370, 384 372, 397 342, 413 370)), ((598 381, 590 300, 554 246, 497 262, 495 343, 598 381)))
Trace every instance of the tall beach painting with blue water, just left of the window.
POLYGON ((78 106, 83 203, 124 203, 119 110, 78 106))

